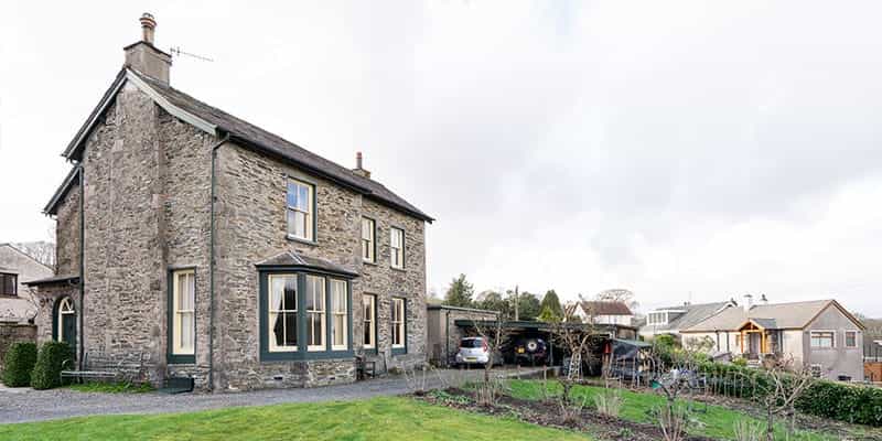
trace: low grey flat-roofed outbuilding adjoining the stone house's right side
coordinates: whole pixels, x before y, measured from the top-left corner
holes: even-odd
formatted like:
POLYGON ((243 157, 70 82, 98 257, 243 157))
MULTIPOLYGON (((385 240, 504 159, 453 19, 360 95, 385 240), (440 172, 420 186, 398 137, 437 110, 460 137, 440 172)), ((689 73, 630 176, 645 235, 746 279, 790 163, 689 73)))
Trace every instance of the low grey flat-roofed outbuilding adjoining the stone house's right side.
MULTIPOLYGON (((435 366, 449 366, 460 348, 460 340, 470 336, 458 320, 474 321, 476 323, 495 322, 499 312, 480 310, 474 308, 450 306, 447 304, 430 304, 427 316, 429 362, 435 366)), ((492 333, 491 325, 485 332, 492 333)))

